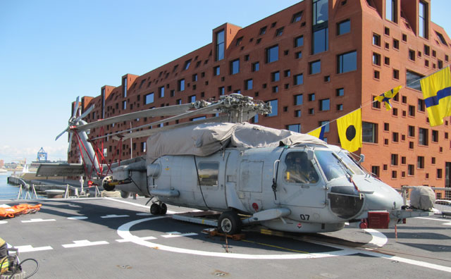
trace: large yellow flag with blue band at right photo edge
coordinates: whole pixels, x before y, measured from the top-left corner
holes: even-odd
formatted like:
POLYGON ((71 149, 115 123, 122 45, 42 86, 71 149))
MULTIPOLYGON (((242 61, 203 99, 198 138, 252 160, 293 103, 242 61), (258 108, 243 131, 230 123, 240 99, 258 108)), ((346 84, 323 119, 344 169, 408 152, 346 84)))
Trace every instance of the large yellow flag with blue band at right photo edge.
POLYGON ((451 116, 451 75, 450 68, 420 80, 424 104, 428 111, 431 126, 443 124, 443 118, 451 116))

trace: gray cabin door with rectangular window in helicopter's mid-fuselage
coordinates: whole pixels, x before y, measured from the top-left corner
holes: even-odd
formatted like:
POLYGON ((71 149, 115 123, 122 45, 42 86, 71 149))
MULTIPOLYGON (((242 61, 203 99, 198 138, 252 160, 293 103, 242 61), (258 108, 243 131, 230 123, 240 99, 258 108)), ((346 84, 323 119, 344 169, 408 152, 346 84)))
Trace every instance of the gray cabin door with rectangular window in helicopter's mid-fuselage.
POLYGON ((221 154, 209 157, 196 157, 199 173, 200 194, 211 209, 227 209, 224 183, 225 161, 221 154))

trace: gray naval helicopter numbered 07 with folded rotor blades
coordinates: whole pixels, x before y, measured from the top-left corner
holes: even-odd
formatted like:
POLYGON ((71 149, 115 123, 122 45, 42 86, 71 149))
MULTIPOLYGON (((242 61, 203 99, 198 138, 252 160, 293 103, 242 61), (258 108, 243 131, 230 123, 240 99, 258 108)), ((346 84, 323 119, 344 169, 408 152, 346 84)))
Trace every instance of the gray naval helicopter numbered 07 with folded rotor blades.
POLYGON ((94 170, 92 180, 105 190, 151 198, 153 214, 166 213, 166 204, 220 211, 218 230, 227 234, 254 224, 294 233, 332 232, 345 223, 388 228, 405 218, 431 215, 404 209, 397 191, 340 147, 310 135, 246 123, 257 113, 271 113, 271 106, 251 97, 231 94, 92 123, 82 120, 92 107, 76 117, 78 101, 75 106, 68 128, 58 137, 66 131, 70 138, 76 135, 85 147, 80 148, 84 165, 42 164, 37 175, 87 175, 94 170), (206 113, 223 116, 141 129, 206 113), (106 135, 89 139, 89 129, 151 116, 172 117, 137 127, 137 132, 108 135, 116 140, 148 137, 145 156, 101 164, 89 143, 106 135))

